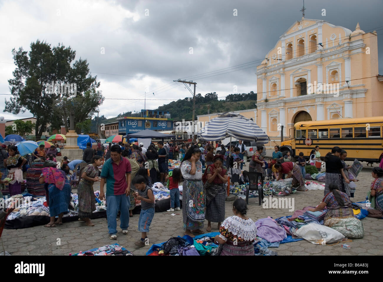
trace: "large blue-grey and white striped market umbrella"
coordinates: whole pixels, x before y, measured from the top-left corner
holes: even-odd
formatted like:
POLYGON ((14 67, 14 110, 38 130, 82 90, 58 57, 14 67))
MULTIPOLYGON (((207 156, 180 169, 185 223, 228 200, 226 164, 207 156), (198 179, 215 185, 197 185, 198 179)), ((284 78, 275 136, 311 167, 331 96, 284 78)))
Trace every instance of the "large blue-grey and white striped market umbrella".
POLYGON ((226 112, 213 118, 197 135, 206 141, 233 137, 243 141, 257 140, 257 143, 267 144, 269 140, 267 134, 250 118, 234 112, 226 112))

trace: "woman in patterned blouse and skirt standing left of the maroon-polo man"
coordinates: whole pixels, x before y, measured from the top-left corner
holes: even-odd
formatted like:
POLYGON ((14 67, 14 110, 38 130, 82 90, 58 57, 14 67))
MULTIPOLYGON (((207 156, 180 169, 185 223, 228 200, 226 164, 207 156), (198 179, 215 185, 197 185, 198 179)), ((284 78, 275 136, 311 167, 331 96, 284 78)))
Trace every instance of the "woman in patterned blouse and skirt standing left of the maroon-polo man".
POLYGON ((93 183, 98 181, 98 169, 101 165, 102 157, 94 156, 91 164, 88 164, 81 174, 81 181, 77 194, 79 195, 79 221, 85 221, 88 226, 94 226, 90 221, 93 211, 96 210, 95 193, 93 192, 93 183))

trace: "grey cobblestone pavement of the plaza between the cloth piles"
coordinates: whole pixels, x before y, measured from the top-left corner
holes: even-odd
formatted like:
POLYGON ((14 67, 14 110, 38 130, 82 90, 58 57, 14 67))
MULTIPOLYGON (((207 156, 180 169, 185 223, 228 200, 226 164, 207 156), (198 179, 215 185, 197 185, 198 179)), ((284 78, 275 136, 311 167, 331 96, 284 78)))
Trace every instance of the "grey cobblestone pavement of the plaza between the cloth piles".
MULTIPOLYGON (((365 200, 366 193, 370 189, 373 180, 371 169, 372 167, 365 165, 360 173, 358 177, 360 181, 357 183, 357 191, 355 198, 351 198, 352 201, 365 200)), ((95 185, 94 189, 98 190, 98 187, 99 184, 95 185)), ((297 192, 288 197, 295 198, 295 209, 302 209, 305 206, 319 204, 323 198, 323 190, 297 192)), ((149 246, 153 243, 167 241, 170 237, 183 235, 182 211, 175 216, 171 214, 171 212, 155 213, 148 236, 150 240, 149 246)), ((277 218, 291 214, 293 212, 289 212, 288 209, 263 209, 262 206, 258 205, 258 198, 249 199, 248 216, 254 221, 267 216, 277 218)), ((232 201, 226 201, 225 217, 231 215, 232 201)), ((13 255, 67 255, 110 243, 118 243, 135 255, 145 255, 149 246, 139 250, 136 250, 134 246, 134 242, 141 237, 141 233, 137 231, 138 218, 139 215, 130 218, 128 235, 123 235, 121 229, 118 228, 117 240, 109 239, 105 218, 92 220, 95 223, 93 227, 87 227, 83 223, 75 221, 64 223, 62 226, 56 226, 56 228, 36 226, 18 230, 4 229, 2 239, 6 250, 13 255), (57 240, 61 241, 61 245, 57 245, 57 240)), ((306 240, 281 244, 279 248, 273 248, 272 250, 277 251, 278 255, 382 255, 383 220, 366 217, 362 219, 362 222, 365 228, 364 238, 352 239, 352 242, 347 243, 351 246, 349 250, 342 248, 340 244, 322 246, 314 245, 306 240)), ((117 223, 119 225, 119 221, 117 223)), ((205 229, 206 227, 207 221, 205 222, 205 229)), ((212 224, 212 228, 212 232, 218 231, 217 224, 212 224)))

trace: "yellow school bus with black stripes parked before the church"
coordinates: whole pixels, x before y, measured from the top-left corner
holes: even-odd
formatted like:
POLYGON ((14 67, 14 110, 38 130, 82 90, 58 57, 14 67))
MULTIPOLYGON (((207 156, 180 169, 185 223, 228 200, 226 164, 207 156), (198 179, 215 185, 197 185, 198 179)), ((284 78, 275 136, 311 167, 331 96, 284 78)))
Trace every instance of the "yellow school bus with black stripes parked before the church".
POLYGON ((321 159, 339 146, 347 151, 346 160, 380 162, 383 156, 383 117, 339 118, 314 122, 297 122, 290 130, 289 140, 281 143, 280 151, 290 151, 296 158, 300 152, 309 157, 319 146, 321 159))

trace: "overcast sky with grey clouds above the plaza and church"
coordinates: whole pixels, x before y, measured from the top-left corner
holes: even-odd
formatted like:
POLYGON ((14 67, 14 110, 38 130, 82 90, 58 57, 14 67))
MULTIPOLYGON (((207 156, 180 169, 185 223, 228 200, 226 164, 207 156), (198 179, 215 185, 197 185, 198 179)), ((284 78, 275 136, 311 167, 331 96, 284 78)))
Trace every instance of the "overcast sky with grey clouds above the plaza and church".
MULTIPOLYGON (((357 22, 365 32, 377 30, 383 74, 381 0, 304 4, 305 18, 324 19, 351 31, 357 22), (326 16, 321 16, 322 9, 326 16)), ((302 6, 302 0, 0 0, 0 94, 10 94, 8 79, 15 70, 11 50, 22 46, 29 51, 37 39, 52 47, 62 42, 76 51, 75 60, 87 59, 105 98, 142 99, 105 100, 100 115, 108 118, 144 109, 145 90, 148 99, 190 97, 182 83, 173 82, 178 78, 197 82, 196 93, 217 92, 220 99, 232 94, 234 85, 237 93, 256 92, 256 66, 283 32, 302 18, 302 6)), ((5 99, 9 96, 0 95, 2 110, 5 99)), ((146 109, 169 102, 146 100, 146 109)), ((0 115, 31 117, 28 111, 17 117, 0 115)))

